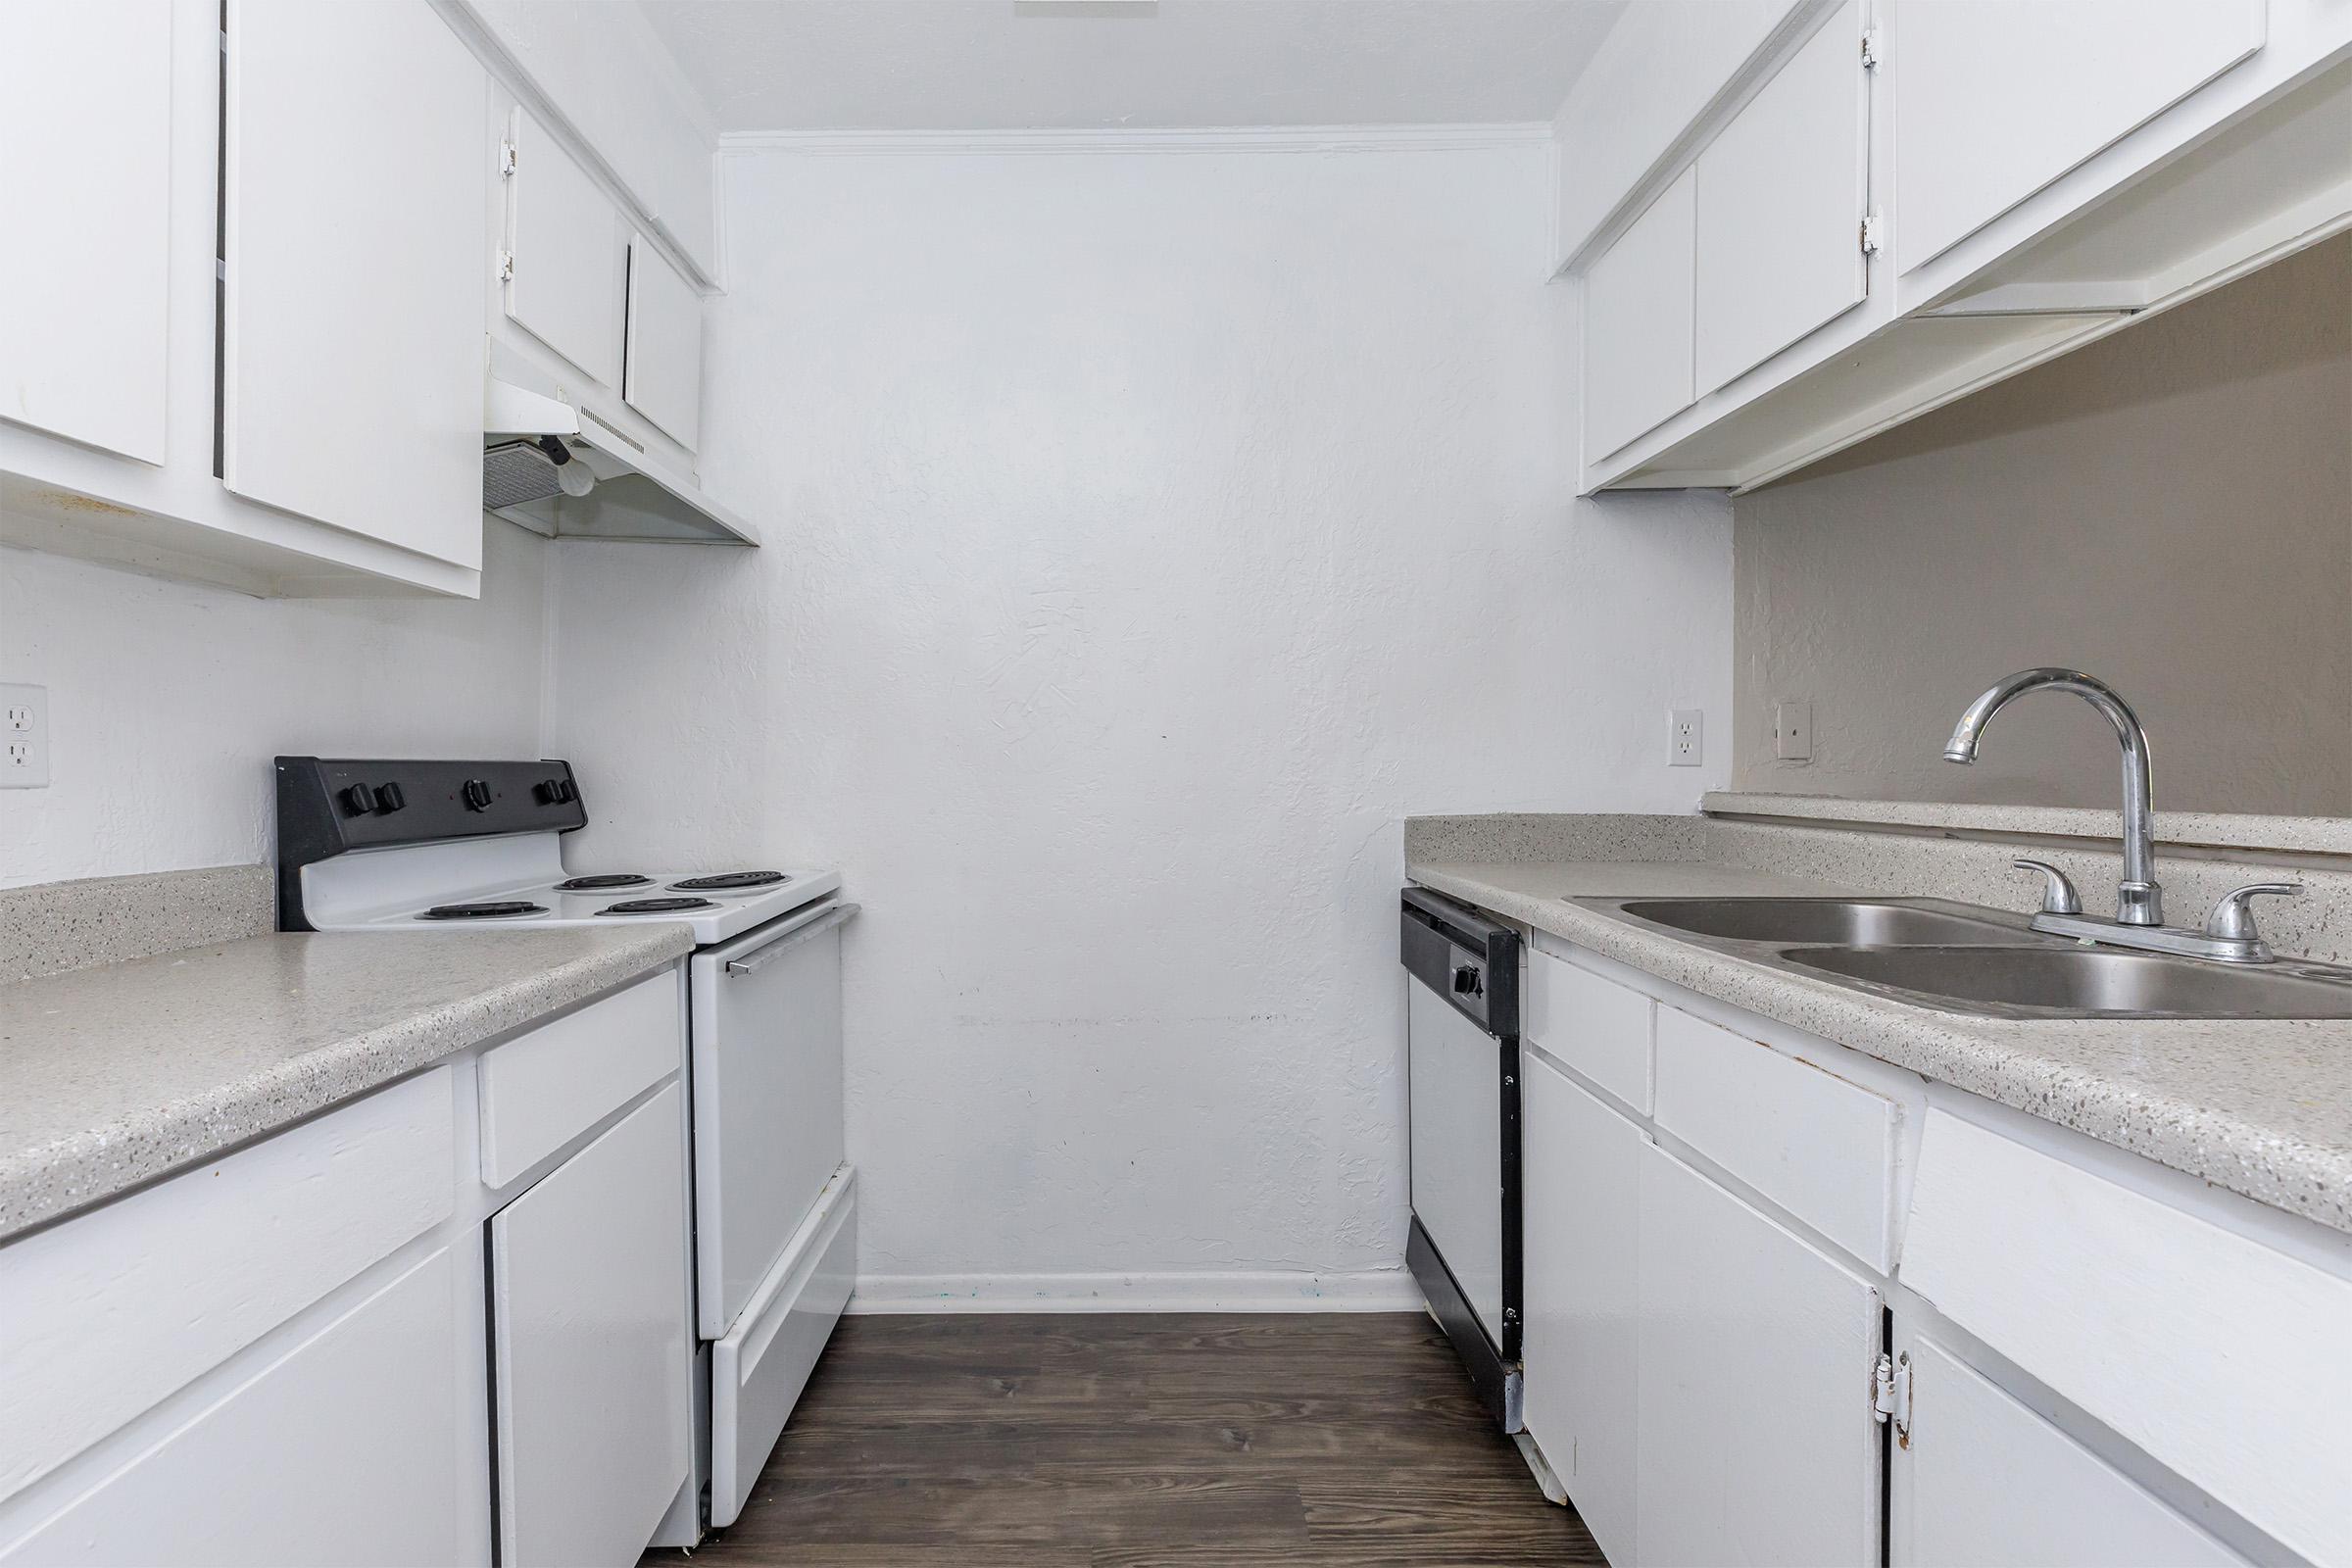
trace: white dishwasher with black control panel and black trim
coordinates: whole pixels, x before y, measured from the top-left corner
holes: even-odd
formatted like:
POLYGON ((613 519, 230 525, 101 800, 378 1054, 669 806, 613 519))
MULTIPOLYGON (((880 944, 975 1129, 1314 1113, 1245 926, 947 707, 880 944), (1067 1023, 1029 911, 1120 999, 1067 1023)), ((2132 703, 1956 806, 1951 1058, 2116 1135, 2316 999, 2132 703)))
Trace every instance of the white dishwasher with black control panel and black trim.
POLYGON ((1404 1262, 1503 1432, 1519 1429, 1519 936, 1404 889, 1404 1262))

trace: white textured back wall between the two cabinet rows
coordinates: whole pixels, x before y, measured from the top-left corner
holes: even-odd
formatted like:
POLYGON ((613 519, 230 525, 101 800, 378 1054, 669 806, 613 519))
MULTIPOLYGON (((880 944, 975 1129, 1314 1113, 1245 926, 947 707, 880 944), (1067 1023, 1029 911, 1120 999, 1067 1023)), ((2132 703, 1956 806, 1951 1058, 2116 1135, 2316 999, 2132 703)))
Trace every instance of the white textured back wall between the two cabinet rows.
POLYGON ((1548 181, 727 160, 769 548, 567 548, 550 743, 576 865, 863 900, 868 1305, 1409 1300, 1399 816, 1684 811, 1665 710, 1729 719, 1729 508, 1562 501, 1548 181))

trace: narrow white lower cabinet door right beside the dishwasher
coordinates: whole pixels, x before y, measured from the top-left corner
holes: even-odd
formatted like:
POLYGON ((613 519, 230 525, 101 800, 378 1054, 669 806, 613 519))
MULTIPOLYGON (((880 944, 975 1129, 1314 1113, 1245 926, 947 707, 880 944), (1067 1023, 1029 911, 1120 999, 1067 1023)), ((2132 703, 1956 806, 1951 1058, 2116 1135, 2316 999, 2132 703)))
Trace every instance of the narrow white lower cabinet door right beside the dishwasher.
POLYGON ((1522 1058, 1526 1429, 1609 1561, 1635 1549, 1635 1192, 1642 1128, 1522 1058))

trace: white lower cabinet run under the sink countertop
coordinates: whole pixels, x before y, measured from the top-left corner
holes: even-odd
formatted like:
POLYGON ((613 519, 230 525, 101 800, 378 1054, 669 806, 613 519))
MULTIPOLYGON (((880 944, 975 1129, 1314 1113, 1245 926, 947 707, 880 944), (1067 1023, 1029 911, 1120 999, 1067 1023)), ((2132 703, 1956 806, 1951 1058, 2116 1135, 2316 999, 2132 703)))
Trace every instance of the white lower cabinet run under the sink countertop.
POLYGON ((2352 1561, 2340 1234, 1595 954, 1529 969, 1526 1434, 1616 1568, 2352 1561), (1637 1004, 1656 1114, 1592 1072, 1639 1056, 1552 1056, 1637 1004))

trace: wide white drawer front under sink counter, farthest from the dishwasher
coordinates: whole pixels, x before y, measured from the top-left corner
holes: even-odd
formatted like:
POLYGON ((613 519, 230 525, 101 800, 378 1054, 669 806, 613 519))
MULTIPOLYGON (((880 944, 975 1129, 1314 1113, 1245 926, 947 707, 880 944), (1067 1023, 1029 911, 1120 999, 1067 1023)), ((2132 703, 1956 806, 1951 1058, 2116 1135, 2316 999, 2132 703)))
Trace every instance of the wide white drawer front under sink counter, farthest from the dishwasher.
POLYGON ((2352 1281, 1931 1110, 1903 1284, 2291 1552, 2352 1561, 2352 1281))

